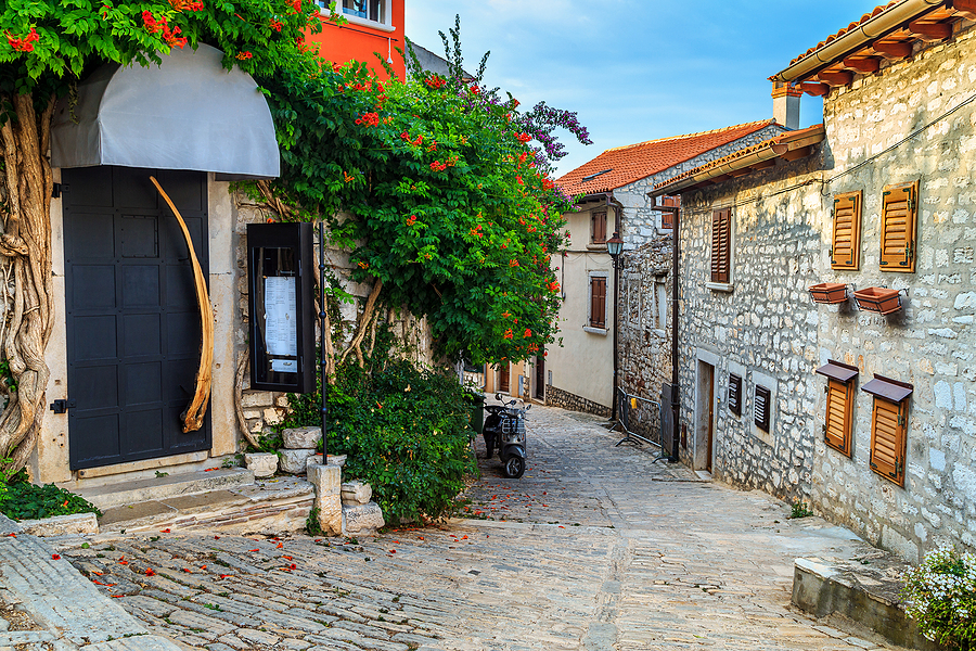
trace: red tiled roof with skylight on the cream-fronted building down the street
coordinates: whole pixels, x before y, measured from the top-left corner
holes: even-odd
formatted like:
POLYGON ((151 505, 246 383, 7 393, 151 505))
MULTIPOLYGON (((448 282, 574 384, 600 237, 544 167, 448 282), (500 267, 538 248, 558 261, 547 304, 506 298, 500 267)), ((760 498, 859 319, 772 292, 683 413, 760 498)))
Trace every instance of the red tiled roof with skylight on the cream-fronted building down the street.
POLYGON ((608 149, 589 163, 560 177, 556 184, 573 196, 609 192, 679 163, 684 163, 717 146, 755 133, 775 122, 775 119, 765 119, 714 131, 673 136, 608 149), (590 180, 583 180, 585 177, 598 174, 599 176, 594 176, 590 180))

